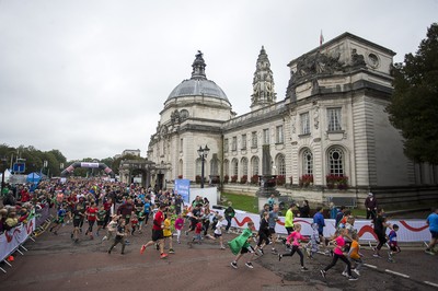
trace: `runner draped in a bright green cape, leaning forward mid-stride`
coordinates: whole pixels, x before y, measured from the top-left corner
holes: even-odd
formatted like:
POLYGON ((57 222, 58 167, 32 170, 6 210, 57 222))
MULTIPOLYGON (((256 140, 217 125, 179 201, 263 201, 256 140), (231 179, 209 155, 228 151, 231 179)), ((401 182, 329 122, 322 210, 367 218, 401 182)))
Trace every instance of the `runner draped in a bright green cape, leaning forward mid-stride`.
POLYGON ((231 261, 231 267, 233 267, 234 269, 238 268, 239 259, 246 253, 250 253, 251 257, 250 260, 245 263, 245 266, 249 267, 250 269, 254 268, 251 260, 254 257, 255 251, 250 244, 253 236, 254 222, 250 221, 246 225, 247 225, 246 229, 243 230, 241 235, 239 235, 231 242, 228 242, 231 252, 235 255, 234 260, 231 261))

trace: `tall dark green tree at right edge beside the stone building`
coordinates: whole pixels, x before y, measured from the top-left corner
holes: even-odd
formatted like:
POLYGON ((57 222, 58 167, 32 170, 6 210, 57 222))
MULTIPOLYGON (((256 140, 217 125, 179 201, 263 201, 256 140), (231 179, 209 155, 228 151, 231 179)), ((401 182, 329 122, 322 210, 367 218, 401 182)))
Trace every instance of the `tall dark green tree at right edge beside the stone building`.
POLYGON ((393 68, 394 91, 387 110, 401 130, 405 154, 418 163, 438 164, 438 24, 416 55, 407 54, 393 68))

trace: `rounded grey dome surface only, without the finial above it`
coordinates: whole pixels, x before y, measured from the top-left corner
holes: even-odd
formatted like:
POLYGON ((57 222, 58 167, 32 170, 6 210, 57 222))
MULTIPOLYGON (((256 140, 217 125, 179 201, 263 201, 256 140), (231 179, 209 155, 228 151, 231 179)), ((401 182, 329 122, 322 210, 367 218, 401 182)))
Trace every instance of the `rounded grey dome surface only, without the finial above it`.
POLYGON ((201 96, 201 95, 216 97, 229 102, 222 89, 220 89, 220 86, 218 86, 214 81, 207 79, 184 80, 172 91, 172 93, 168 97, 168 101, 181 96, 201 96))

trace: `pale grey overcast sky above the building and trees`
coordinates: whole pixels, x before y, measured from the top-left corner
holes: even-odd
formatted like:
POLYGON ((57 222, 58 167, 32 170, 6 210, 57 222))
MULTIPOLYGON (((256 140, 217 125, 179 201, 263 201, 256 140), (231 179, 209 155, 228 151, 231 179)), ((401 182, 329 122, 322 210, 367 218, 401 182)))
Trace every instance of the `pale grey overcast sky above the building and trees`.
POLYGON ((326 42, 349 32, 392 49, 396 62, 437 15, 438 0, 0 0, 0 143, 69 161, 125 149, 146 156, 198 49, 241 115, 262 45, 283 100, 286 65, 318 47, 321 30, 326 42))

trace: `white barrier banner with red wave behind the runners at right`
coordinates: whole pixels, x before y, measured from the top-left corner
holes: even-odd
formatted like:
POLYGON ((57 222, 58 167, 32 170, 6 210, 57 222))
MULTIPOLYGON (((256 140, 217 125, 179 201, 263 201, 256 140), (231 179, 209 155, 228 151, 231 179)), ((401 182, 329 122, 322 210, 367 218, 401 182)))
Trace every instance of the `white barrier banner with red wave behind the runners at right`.
MULTIPOLYGON (((223 210, 216 210, 223 214, 223 210)), ((254 222, 255 229, 258 230, 261 218, 258 214, 254 213, 240 213, 238 212, 233 220, 231 221, 231 228, 243 229, 246 228, 249 221, 254 222)), ((311 218, 295 218, 293 223, 300 223, 302 229, 302 235, 311 235, 312 228, 311 224, 313 219, 311 218)), ((389 223, 397 224, 397 240, 399 242, 413 243, 413 242, 428 242, 430 240, 430 232, 428 225, 426 224, 426 219, 424 220, 390 220, 389 223)), ((373 231, 370 220, 356 220, 355 229, 358 231, 359 240, 361 242, 372 242, 377 241, 377 235, 373 231)), ((389 232, 390 230, 388 230, 389 232)), ((279 221, 276 224, 275 232, 279 234, 287 234, 285 229, 285 218, 279 217, 279 221)), ((325 219, 324 236, 330 237, 335 233, 335 220, 325 219)))

